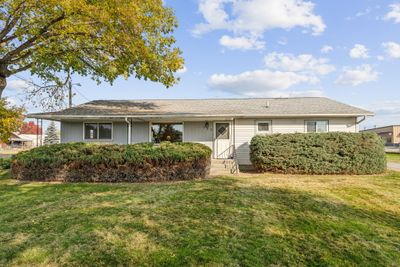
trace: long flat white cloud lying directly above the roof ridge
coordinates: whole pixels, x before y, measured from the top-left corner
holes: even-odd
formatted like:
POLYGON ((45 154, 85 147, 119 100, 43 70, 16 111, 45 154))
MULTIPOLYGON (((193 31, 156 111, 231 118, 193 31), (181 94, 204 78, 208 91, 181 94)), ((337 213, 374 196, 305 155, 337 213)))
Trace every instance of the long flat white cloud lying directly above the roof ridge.
POLYGON ((277 90, 285 90, 300 83, 313 84, 318 82, 315 77, 270 70, 246 71, 237 75, 214 74, 209 80, 212 88, 245 95, 267 95, 277 90))

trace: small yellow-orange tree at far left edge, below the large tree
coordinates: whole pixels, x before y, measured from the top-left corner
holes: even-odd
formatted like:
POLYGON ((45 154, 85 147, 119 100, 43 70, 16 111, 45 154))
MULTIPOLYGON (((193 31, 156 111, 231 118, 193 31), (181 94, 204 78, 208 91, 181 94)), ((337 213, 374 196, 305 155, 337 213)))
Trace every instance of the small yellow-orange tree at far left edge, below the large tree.
POLYGON ((20 129, 23 112, 22 108, 9 106, 6 100, 0 99, 0 141, 7 143, 11 133, 20 129))

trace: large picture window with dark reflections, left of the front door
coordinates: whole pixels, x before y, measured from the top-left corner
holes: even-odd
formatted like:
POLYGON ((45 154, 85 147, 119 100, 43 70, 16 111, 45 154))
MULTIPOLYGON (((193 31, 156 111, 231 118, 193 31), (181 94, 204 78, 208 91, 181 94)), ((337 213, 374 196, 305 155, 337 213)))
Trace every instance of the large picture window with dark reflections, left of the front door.
POLYGON ((182 142, 183 124, 182 123, 153 123, 151 125, 153 143, 182 142))

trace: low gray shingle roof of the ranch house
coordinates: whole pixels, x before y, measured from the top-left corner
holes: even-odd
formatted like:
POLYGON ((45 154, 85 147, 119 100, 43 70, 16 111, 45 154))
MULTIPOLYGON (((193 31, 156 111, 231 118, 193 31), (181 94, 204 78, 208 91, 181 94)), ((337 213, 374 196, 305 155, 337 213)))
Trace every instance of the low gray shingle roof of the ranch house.
POLYGON ((78 117, 296 117, 364 116, 372 112, 324 97, 96 100, 58 112, 29 114, 31 118, 78 117))

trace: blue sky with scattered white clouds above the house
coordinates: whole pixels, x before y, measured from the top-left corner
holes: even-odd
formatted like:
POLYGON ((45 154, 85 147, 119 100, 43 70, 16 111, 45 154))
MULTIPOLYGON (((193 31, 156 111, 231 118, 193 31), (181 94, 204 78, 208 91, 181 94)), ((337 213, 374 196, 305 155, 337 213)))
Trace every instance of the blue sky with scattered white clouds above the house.
MULTIPOLYGON (((362 127, 400 124, 400 1, 164 2, 179 21, 175 36, 185 58, 180 83, 166 89, 129 78, 110 86, 75 77, 81 86, 74 104, 94 99, 327 96, 375 111, 377 116, 362 127)), ((15 97, 22 83, 12 80, 5 94, 23 101, 15 97)))

